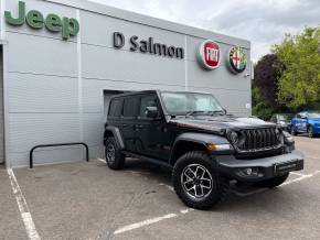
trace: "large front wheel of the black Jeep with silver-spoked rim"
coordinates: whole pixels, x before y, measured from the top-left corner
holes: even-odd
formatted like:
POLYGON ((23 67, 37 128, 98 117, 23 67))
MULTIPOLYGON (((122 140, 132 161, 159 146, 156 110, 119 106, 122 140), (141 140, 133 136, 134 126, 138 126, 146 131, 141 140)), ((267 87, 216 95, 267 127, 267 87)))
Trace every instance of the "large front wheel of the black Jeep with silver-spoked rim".
POLYGON ((189 207, 209 209, 226 195, 227 184, 205 152, 189 152, 175 163, 173 186, 179 198, 189 207))

